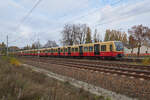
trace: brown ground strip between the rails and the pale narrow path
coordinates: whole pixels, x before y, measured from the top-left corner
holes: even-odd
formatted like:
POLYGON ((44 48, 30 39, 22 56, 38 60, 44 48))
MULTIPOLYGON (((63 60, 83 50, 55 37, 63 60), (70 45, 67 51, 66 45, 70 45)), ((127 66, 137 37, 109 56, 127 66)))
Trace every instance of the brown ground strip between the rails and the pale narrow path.
POLYGON ((32 61, 27 60, 24 60, 24 62, 40 68, 42 67, 63 76, 69 76, 77 80, 100 86, 116 93, 138 98, 139 100, 150 100, 150 87, 148 85, 150 84, 149 80, 139 80, 136 78, 122 77, 120 75, 81 70, 57 64, 32 63, 32 61))

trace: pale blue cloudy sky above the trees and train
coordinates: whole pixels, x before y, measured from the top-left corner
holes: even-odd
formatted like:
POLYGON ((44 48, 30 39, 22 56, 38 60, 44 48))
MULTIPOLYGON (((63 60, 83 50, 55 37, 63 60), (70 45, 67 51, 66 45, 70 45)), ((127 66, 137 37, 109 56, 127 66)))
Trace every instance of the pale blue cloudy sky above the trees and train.
POLYGON ((103 39, 106 29, 127 32, 134 25, 150 27, 150 0, 1 0, 0 43, 23 47, 39 40, 59 45, 65 24, 87 24, 103 39))

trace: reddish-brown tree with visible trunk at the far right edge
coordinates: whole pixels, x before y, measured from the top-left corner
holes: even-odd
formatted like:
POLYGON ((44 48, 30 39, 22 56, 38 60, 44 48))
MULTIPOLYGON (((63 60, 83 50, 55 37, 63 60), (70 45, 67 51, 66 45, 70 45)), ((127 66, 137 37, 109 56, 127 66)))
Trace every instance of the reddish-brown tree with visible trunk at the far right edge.
POLYGON ((143 25, 137 25, 129 29, 128 32, 137 41, 138 46, 137 55, 139 56, 141 46, 145 43, 145 41, 149 39, 148 37, 150 35, 150 29, 143 25))

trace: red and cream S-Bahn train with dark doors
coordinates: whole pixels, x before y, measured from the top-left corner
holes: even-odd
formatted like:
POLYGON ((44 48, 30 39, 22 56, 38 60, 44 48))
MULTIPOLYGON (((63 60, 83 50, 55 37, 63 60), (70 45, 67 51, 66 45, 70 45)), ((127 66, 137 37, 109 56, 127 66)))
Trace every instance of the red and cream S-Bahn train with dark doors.
POLYGON ((74 46, 43 48, 18 51, 19 56, 56 56, 56 57, 95 57, 95 58, 122 58, 123 44, 120 41, 108 41, 81 44, 74 46))

